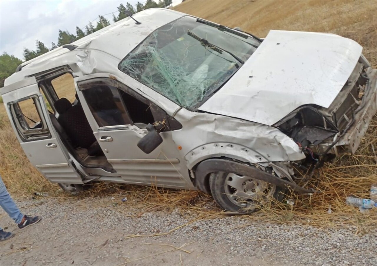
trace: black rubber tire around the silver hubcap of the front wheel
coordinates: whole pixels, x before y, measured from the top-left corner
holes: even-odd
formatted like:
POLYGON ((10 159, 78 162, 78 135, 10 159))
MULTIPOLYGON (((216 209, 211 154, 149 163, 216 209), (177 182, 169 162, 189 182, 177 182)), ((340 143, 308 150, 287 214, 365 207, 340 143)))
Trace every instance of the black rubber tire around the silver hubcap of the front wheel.
MULTIPOLYGON (((211 173, 210 178, 209 178, 209 185, 210 185, 211 194, 213 198, 215 199, 216 203, 222 209, 226 211, 237 212, 241 214, 250 214, 250 213, 260 210, 263 207, 263 205, 268 204, 268 202, 271 203, 274 200, 282 201, 285 193, 287 192, 287 189, 285 188, 277 187, 276 185, 271 185, 265 182, 266 184, 273 187, 273 190, 274 190, 274 191, 269 192, 271 195, 268 195, 270 196, 270 198, 266 197, 266 201, 264 201, 263 203, 257 202, 254 204, 252 203, 253 202, 252 200, 250 200, 251 202, 236 203, 236 201, 234 199, 232 200, 231 197, 229 196, 230 194, 229 191, 226 191, 225 183, 227 182, 227 178, 230 174, 231 173, 228 173, 228 172, 213 172, 211 173)), ((231 174, 231 175, 235 175, 235 174, 231 174)), ((253 182, 257 182, 256 184, 264 182, 260 180, 258 181, 258 179, 256 178, 250 178, 250 179, 252 179, 253 182)))

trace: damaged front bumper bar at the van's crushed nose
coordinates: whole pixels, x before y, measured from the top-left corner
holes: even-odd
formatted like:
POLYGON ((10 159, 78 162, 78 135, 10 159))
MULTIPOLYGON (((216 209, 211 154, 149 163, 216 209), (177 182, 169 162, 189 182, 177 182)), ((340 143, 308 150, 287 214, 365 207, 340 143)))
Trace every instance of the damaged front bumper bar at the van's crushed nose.
POLYGON ((371 68, 369 70, 369 73, 367 72, 369 91, 365 92, 363 100, 360 103, 360 110, 354 116, 354 121, 351 121, 352 125, 340 138, 336 146, 334 146, 334 154, 338 154, 340 151, 348 151, 351 154, 356 152, 377 110, 377 70, 372 70, 371 68))

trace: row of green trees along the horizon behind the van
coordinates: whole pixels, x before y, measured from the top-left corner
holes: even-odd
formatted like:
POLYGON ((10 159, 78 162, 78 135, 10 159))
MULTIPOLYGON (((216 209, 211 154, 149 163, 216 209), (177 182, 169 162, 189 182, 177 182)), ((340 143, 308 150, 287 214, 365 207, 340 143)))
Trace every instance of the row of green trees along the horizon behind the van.
MULTIPOLYGON (((144 3, 144 5, 138 2, 135 7, 133 7, 130 3, 127 2, 126 6, 120 4, 117 7, 119 14, 118 16, 115 16, 113 14, 112 20, 113 22, 116 22, 128 17, 126 11, 136 13, 149 8, 168 8, 171 5, 172 0, 158 0, 158 2, 155 2, 154 0, 147 0, 144 3)), ((93 25, 93 23, 90 22, 87 26, 85 26, 84 29, 80 29, 78 26, 76 26, 75 33, 70 33, 68 30, 59 30, 58 40, 56 43, 52 42, 50 48, 48 48, 41 41, 37 40, 35 50, 27 48, 23 49, 23 59, 25 61, 29 61, 37 56, 43 55, 44 53, 54 50, 57 47, 63 46, 64 44, 69 44, 76 40, 79 40, 80 38, 83 38, 84 36, 96 32, 97 30, 100 30, 103 27, 107 27, 109 25, 110 21, 107 18, 100 15, 97 24, 93 25)), ((0 87, 4 87, 5 79, 8 78, 11 74, 13 74, 17 66, 21 63, 22 61, 14 55, 9 55, 6 52, 0 55, 0 87)))

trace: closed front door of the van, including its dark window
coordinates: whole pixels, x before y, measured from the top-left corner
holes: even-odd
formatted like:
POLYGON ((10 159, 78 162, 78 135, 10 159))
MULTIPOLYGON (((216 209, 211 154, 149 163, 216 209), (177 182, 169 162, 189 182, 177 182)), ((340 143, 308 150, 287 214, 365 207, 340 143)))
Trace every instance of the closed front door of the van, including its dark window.
POLYGON ((172 139, 172 130, 181 125, 173 125, 171 119, 173 126, 160 133, 162 144, 145 154, 137 147, 138 141, 148 133, 148 123, 167 119, 166 114, 115 76, 99 75, 75 78, 78 97, 93 134, 122 179, 130 184, 192 188, 188 169, 172 139))

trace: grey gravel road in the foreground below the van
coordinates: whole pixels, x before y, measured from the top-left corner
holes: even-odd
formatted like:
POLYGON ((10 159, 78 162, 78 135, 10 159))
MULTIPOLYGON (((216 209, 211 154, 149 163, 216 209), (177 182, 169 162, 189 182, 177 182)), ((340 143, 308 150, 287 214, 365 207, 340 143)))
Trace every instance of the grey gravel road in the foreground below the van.
POLYGON ((135 217, 111 197, 17 203, 43 220, 18 230, 0 210, 1 226, 16 233, 0 243, 1 265, 377 265, 377 228, 356 236, 352 227, 246 225, 239 216, 185 225, 196 217, 180 210, 135 217))

